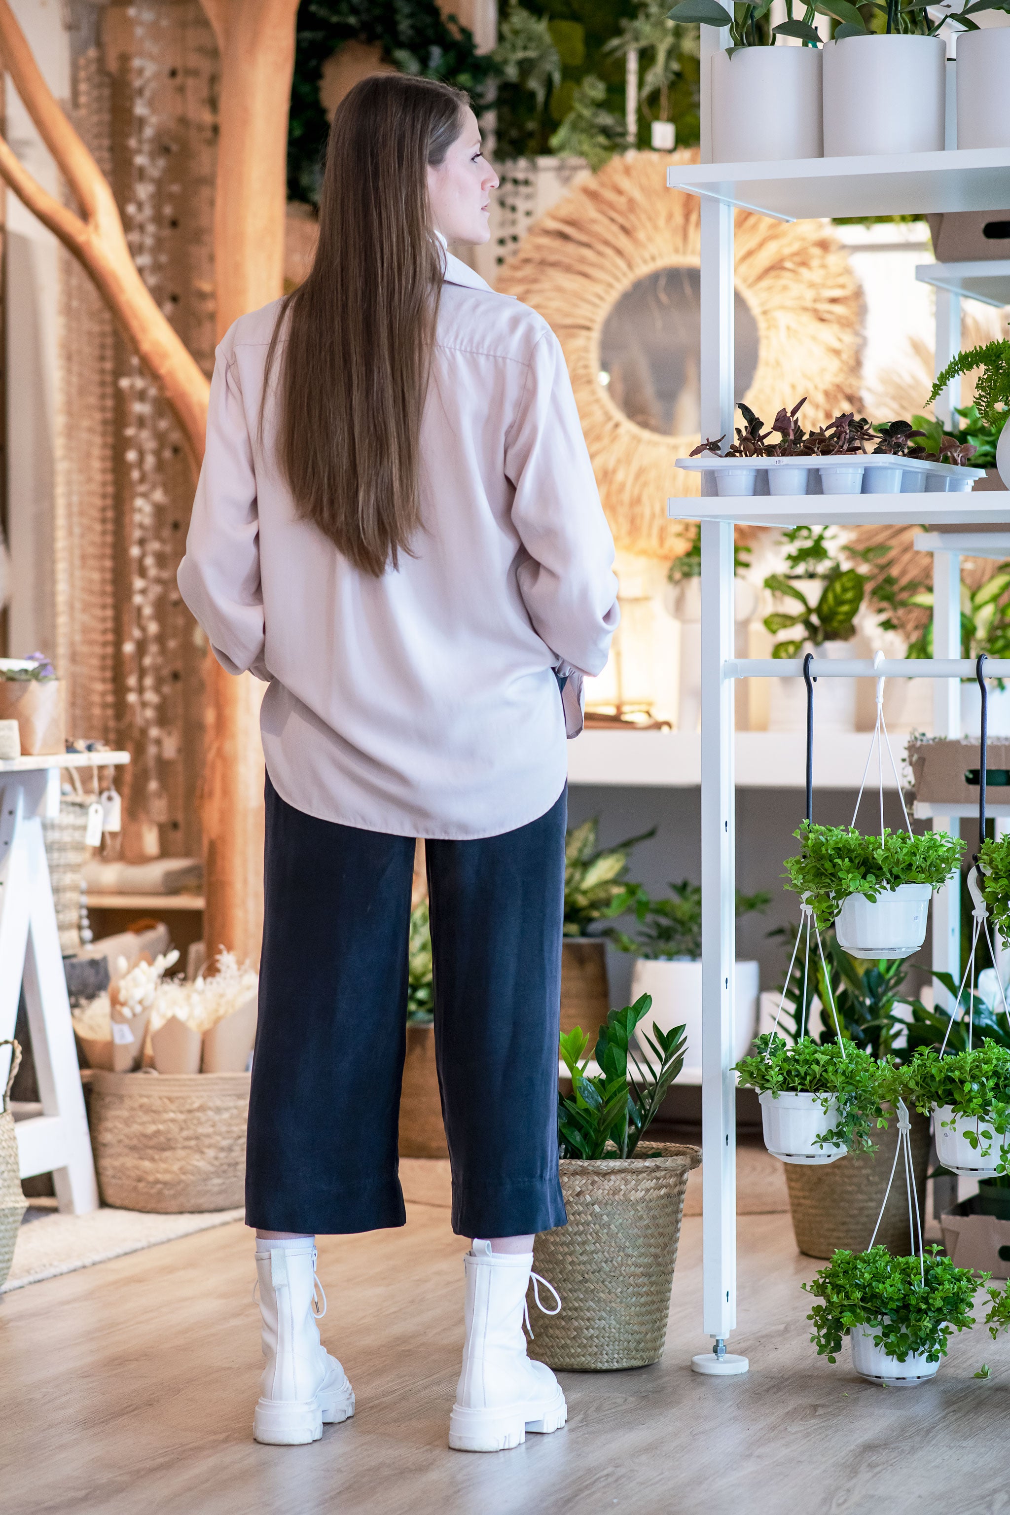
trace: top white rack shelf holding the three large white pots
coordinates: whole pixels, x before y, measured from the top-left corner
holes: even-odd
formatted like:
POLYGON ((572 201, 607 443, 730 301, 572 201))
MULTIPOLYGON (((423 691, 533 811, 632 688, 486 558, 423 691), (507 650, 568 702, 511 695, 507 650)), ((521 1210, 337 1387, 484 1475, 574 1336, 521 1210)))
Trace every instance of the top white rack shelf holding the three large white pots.
POLYGON ((666 170, 666 185, 780 221, 990 211, 1010 205, 1010 150, 977 147, 868 158, 798 158, 777 164, 675 164, 666 170))

